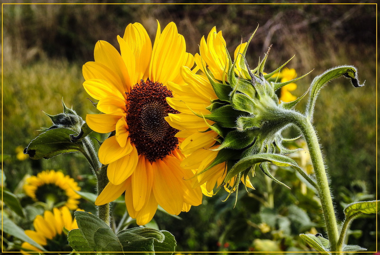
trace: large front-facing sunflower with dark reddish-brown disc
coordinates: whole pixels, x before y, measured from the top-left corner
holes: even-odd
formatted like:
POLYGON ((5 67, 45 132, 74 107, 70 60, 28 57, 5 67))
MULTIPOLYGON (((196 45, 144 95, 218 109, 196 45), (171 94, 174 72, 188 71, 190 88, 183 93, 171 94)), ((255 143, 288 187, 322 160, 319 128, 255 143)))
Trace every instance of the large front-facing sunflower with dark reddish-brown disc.
POLYGON ((111 132, 98 152, 100 162, 108 165, 109 183, 95 205, 125 192, 128 213, 145 225, 158 204, 178 215, 202 202, 201 188, 192 189, 194 173, 180 167, 184 155, 178 150, 178 130, 164 119, 179 113, 166 103, 166 97, 173 97, 167 83, 184 85, 180 67, 191 68, 194 57, 173 22, 162 33, 158 23, 153 47, 139 23, 129 24, 117 40, 120 54, 98 41, 95 62, 83 66, 84 88, 99 100, 97 109, 103 113, 87 115, 86 122, 96 132, 111 132))

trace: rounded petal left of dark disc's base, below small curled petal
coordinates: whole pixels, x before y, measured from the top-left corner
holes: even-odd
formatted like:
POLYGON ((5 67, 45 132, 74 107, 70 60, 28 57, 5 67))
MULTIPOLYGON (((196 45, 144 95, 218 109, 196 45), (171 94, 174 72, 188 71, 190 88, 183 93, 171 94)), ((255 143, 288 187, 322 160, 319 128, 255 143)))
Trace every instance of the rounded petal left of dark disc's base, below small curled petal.
POLYGON ((107 165, 131 153, 133 148, 129 140, 130 138, 128 138, 124 147, 120 147, 115 135, 107 138, 99 148, 98 155, 100 163, 107 165))

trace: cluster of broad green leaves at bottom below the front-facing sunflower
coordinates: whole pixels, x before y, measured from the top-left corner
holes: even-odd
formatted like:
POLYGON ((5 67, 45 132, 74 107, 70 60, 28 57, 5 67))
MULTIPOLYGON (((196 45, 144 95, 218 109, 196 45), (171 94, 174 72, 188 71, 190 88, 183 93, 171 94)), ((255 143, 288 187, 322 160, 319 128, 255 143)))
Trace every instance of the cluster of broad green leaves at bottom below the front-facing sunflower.
MULTIPOLYGON (((89 248, 97 252, 174 252, 176 241, 168 231, 158 231, 154 228, 130 228, 121 230, 117 235, 97 216, 76 211, 75 217, 79 232, 71 237, 73 249, 77 252, 88 252, 89 248), (81 234, 81 236, 79 236, 81 234), (83 240, 86 244, 83 244, 83 240)), ((70 244, 70 243, 69 243, 70 244)), ((71 245, 70 244, 70 245, 71 245)))

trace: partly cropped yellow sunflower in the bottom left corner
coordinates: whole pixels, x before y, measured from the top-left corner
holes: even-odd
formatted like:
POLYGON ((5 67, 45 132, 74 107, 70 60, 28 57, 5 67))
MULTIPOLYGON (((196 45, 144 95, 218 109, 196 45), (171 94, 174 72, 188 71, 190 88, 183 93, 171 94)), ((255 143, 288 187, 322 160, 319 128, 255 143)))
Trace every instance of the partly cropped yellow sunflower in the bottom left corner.
MULTIPOLYGON (((84 211, 77 209, 77 211, 84 211)), ((35 230, 25 230, 25 234, 40 244, 48 251, 52 252, 71 252, 73 249, 67 241, 67 232, 74 228, 78 228, 76 220, 71 216, 67 206, 62 206, 60 209, 53 208, 51 211, 45 211, 44 216, 37 215, 33 220, 35 230), (66 228, 65 231, 63 231, 66 228)), ((28 242, 21 245, 22 249, 41 252, 40 249, 34 247, 28 242)), ((28 254, 22 252, 23 254, 28 254)))

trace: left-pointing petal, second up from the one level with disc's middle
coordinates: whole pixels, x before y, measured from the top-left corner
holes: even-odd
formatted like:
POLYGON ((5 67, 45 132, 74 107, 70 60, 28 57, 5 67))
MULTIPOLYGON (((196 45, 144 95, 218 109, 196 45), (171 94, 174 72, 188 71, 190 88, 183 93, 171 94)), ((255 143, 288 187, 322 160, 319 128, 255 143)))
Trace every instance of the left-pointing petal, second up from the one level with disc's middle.
POLYGON ((116 98, 125 100, 125 97, 117 89, 117 87, 106 80, 89 79, 83 83, 83 87, 90 96, 97 100, 100 100, 106 96, 114 96, 116 98))

